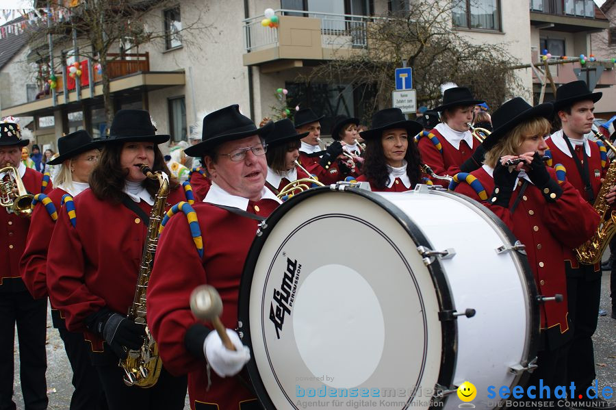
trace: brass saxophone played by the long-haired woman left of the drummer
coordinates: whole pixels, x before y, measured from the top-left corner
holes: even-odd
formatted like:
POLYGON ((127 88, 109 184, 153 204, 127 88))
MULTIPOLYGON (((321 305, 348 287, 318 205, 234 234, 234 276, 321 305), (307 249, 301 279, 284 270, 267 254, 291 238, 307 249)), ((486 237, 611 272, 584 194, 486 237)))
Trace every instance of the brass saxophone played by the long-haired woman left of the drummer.
POLYGON ((154 264, 158 229, 165 214, 165 205, 167 195, 169 194, 169 179, 163 172, 153 172, 147 164, 141 165, 141 171, 149 179, 158 179, 160 183, 160 188, 154 198, 154 205, 150 212, 150 225, 148 226, 146 243, 141 257, 135 298, 127 316, 130 320, 134 320, 135 323, 145 326, 146 337, 141 349, 129 350, 127 358, 120 359, 119 366, 125 371, 124 383, 126 385, 152 387, 158 380, 162 361, 158 354, 158 345, 146 322, 146 291, 154 264))

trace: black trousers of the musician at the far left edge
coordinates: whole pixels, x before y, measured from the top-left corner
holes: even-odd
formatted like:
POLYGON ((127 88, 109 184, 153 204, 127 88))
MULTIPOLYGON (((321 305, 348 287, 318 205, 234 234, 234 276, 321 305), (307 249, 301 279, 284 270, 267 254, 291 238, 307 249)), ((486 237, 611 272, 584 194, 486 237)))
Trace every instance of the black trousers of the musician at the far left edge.
POLYGON ((16 409, 13 402, 15 324, 25 410, 47 409, 47 298, 35 300, 23 291, 0 293, 0 410, 16 409))

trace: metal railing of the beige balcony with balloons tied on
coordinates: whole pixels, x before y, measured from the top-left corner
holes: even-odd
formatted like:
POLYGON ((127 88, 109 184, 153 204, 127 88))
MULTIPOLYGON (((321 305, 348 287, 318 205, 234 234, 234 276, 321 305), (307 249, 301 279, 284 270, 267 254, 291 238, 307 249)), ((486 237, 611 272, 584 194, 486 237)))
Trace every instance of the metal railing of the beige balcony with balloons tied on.
MULTIPOLYGON (((303 12, 301 10, 283 9, 276 10, 276 15, 320 18, 323 47, 367 47, 367 24, 378 19, 378 17, 355 16, 352 14, 303 12)), ((261 15, 244 20, 244 45, 247 52, 279 45, 278 29, 275 27, 263 27, 261 21, 264 18, 265 16, 261 15)))

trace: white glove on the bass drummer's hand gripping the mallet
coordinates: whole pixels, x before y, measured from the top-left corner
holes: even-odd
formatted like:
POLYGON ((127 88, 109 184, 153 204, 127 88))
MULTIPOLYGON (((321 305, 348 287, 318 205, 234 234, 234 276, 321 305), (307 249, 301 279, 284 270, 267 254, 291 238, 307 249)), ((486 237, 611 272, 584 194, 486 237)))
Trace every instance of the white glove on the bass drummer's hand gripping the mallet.
POLYGON ((235 376, 251 359, 251 350, 244 346, 240 336, 231 329, 226 329, 235 350, 229 350, 222 345, 217 331, 209 332, 203 342, 203 352, 207 363, 220 377, 235 376))

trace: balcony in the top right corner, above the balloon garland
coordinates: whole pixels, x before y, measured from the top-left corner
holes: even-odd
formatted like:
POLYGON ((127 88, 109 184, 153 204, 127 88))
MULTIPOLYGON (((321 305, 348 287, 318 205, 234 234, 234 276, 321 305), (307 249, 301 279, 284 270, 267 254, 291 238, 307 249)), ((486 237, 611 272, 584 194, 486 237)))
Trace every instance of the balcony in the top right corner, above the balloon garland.
POLYGON ((569 33, 609 27, 608 19, 593 0, 530 0, 530 24, 569 33))

